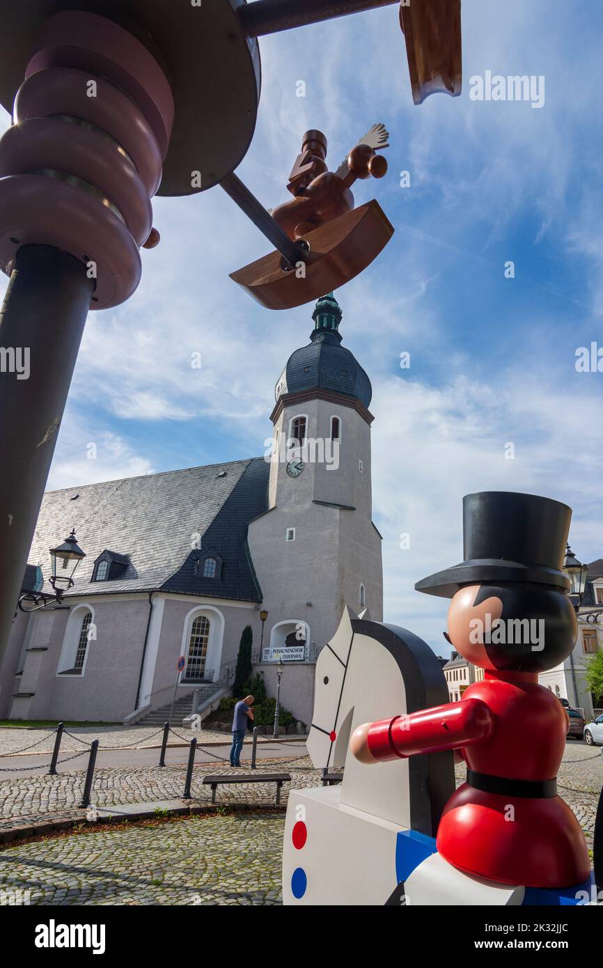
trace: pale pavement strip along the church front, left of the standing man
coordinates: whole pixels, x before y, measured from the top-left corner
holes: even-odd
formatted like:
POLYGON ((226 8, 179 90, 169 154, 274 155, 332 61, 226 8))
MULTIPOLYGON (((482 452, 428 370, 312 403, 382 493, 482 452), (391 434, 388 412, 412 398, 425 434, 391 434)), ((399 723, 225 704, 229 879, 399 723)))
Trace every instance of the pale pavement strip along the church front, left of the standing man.
MULTIPOLYGON (((215 733, 211 730, 198 730, 192 733, 185 726, 174 727, 169 735, 169 745, 191 741, 194 736, 202 745, 203 742, 227 742, 229 734, 215 733), (179 734, 177 736, 176 734, 179 734), (183 739, 184 738, 184 739, 183 739)), ((161 745, 164 727, 157 726, 68 726, 61 741, 61 754, 75 753, 83 749, 82 741, 90 746, 93 740, 100 740, 101 749, 124 749, 128 746, 144 748, 145 746, 161 745), (71 734, 71 735, 70 735, 71 734), (76 737, 76 739, 74 739, 76 737)), ((0 756, 20 752, 25 747, 33 745, 34 753, 51 753, 54 746, 55 731, 53 729, 13 729, 9 726, 0 727, 0 756)))

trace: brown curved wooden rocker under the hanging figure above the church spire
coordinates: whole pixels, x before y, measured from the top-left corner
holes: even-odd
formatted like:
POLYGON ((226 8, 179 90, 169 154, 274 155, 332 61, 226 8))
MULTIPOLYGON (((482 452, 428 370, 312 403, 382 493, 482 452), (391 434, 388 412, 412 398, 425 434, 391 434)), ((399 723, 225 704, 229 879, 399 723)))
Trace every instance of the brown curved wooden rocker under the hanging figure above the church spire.
POLYGON ((305 236, 310 255, 302 268, 282 268, 279 252, 230 273, 266 309, 293 309, 345 286, 377 258, 394 227, 377 201, 369 201, 305 236))

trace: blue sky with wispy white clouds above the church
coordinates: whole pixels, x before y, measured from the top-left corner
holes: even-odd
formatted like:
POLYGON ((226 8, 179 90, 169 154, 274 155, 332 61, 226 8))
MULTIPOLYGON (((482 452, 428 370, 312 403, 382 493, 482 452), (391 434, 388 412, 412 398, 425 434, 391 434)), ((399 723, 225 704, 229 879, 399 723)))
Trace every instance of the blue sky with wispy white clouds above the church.
MULTIPOLYGON (((576 554, 603 557, 603 373, 575 368, 577 348, 603 347, 602 20, 595 0, 464 0, 463 95, 418 107, 395 7, 260 42, 238 173, 266 206, 286 200, 306 129, 325 132, 332 168, 375 121, 390 132, 389 174, 354 194, 377 197, 396 234, 337 297, 374 387, 384 617, 442 654, 446 604, 413 585, 462 559, 464 494, 564 500, 576 554), (486 71, 544 76, 544 106, 471 101, 486 71)), ((143 253, 136 295, 90 314, 50 487, 261 454, 274 384, 307 342, 312 305, 270 313, 228 279, 269 246, 220 189, 154 211, 162 243, 143 253)))

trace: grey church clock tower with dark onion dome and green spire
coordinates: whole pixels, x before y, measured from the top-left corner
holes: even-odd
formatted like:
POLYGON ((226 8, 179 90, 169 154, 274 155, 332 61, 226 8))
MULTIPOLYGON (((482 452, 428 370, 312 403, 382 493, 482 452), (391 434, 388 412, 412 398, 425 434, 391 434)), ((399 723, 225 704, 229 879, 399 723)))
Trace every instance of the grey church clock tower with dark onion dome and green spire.
POLYGON ((268 511, 249 528, 268 611, 261 669, 270 688, 271 661, 283 655, 283 702, 305 722, 317 652, 344 607, 368 607, 380 621, 383 594, 372 519, 371 381, 342 345, 343 312, 332 292, 312 318, 310 343, 291 354, 276 385, 268 511))

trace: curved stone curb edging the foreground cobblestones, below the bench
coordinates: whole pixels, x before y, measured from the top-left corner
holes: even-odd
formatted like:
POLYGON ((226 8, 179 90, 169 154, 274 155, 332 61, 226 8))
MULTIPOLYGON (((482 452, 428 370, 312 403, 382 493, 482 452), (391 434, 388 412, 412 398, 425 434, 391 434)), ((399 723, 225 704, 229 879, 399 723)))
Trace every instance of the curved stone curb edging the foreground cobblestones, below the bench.
POLYGON ((166 818, 170 816, 195 816, 202 813, 217 813, 220 807, 226 807, 228 811, 246 813, 255 810, 270 809, 271 813, 286 812, 286 803, 279 804, 265 803, 197 803, 194 801, 183 800, 164 800, 157 802, 123 803, 112 808, 98 808, 97 819, 88 820, 86 810, 81 808, 81 816, 56 816, 41 820, 32 824, 5 828, 0 830, 0 844, 15 843, 27 837, 38 836, 40 834, 58 833, 68 831, 74 827, 81 827, 85 824, 93 828, 95 824, 121 824, 124 820, 156 820, 158 819, 157 810, 166 811, 166 818), (117 811, 117 812, 116 812, 117 811))

